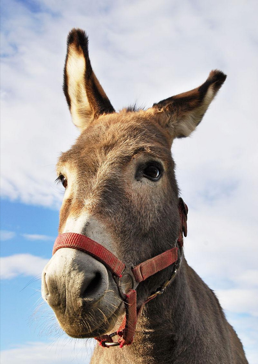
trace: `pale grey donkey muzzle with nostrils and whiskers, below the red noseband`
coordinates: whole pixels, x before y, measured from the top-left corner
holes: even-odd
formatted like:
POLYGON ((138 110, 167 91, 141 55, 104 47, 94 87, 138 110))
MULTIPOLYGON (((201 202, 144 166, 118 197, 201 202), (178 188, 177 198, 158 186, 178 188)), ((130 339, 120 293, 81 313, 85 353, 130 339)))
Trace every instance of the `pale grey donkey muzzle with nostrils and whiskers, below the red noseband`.
POLYGON ((113 278, 99 261, 79 250, 59 249, 42 272, 42 296, 67 335, 103 335, 124 305, 113 278))

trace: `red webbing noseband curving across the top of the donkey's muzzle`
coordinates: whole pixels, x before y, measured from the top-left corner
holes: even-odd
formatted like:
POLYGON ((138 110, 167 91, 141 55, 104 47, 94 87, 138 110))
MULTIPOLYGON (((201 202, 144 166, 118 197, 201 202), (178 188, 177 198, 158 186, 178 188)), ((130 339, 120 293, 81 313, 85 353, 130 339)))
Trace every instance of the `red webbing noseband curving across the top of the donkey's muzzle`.
POLYGON ((90 254, 93 258, 100 261, 107 269, 109 269, 117 277, 120 277, 125 265, 113 253, 106 249, 103 245, 98 244, 96 241, 91 240, 85 235, 77 233, 64 233, 56 238, 53 255, 56 250, 61 248, 73 248, 82 250, 90 254))

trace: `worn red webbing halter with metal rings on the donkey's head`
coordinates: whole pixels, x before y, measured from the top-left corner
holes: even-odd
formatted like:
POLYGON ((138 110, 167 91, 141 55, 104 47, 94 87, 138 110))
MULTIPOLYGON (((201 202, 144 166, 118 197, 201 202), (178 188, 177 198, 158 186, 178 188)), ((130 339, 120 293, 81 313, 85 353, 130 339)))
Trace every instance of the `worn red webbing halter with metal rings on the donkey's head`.
MULTIPOLYGON (((179 237, 177 244, 181 248, 183 246, 183 234, 187 235, 187 212, 188 208, 185 205, 183 199, 179 198, 179 214, 181 218, 181 226, 179 231, 179 237)), ((117 285, 118 293, 125 304, 125 318, 117 330, 110 335, 101 335, 95 337, 99 341, 99 345, 102 347, 110 347, 119 345, 122 348, 124 345, 130 345, 133 342, 133 337, 136 330, 137 318, 141 312, 142 307, 155 298, 158 294, 163 293, 167 285, 172 281, 176 274, 176 268, 181 264, 182 255, 178 257, 178 248, 172 248, 166 250, 164 253, 157 255, 156 257, 150 258, 145 262, 133 266, 132 264, 121 262, 113 253, 106 249, 103 245, 98 244, 96 241, 91 240, 85 235, 77 233, 64 233, 56 238, 53 247, 53 255, 58 249, 61 248, 72 248, 81 250, 101 262, 105 267, 112 273, 114 282, 117 285), (144 281, 146 278, 153 274, 167 268, 173 264, 172 276, 166 281, 159 289, 149 297, 146 301, 137 309, 136 305, 136 287, 144 281), (128 292, 123 290, 125 285, 122 285, 122 277, 128 275, 132 280, 132 288, 128 292), (118 335, 119 339, 113 342, 112 337, 118 335)))

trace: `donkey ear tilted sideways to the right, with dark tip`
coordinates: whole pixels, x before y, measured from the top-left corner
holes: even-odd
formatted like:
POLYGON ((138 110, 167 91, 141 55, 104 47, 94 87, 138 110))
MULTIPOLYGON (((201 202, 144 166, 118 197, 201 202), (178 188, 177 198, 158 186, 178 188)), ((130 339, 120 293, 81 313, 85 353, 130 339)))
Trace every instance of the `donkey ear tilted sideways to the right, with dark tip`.
POLYGON ((149 111, 161 126, 168 128, 173 139, 188 137, 202 120, 226 77, 223 72, 213 70, 200 87, 153 104, 149 111))

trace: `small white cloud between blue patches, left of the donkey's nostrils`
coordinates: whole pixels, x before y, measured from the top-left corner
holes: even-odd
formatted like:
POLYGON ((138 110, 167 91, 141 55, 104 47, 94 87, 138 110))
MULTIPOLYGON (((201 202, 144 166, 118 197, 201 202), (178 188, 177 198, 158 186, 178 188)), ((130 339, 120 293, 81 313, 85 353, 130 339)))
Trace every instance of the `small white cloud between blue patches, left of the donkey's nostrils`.
POLYGON ((0 278, 10 279, 19 275, 37 276, 47 264, 48 259, 32 254, 14 254, 0 258, 0 278))

